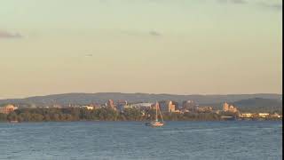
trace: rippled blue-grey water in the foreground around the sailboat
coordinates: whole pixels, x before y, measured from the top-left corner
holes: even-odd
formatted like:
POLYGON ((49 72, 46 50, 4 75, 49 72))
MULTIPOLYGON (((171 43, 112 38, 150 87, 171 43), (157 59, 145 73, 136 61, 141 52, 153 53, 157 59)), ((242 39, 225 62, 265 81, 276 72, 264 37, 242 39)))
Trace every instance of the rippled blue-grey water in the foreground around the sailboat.
POLYGON ((282 159, 282 122, 0 123, 0 159, 282 159))

